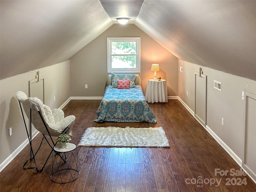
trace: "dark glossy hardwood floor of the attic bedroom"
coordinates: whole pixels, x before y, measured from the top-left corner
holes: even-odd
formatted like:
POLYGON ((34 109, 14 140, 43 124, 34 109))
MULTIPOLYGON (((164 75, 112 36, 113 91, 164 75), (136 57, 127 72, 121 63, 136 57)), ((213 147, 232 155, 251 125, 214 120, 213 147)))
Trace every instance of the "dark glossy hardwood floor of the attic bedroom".
MULTIPOLYGON (((231 176, 230 170, 240 167, 227 152, 208 134, 178 100, 149 104, 158 123, 98 124, 95 112, 100 100, 71 100, 65 115, 74 114, 72 142, 78 144, 88 127, 159 127, 162 126, 170 148, 108 148, 78 146, 80 176, 74 182, 57 184, 50 180, 52 159, 43 172, 24 170, 29 159, 29 146, 0 173, 1 192, 255 192, 256 184, 248 176, 231 176), (215 169, 228 170, 227 175, 215 169), (201 181, 202 183, 196 184, 201 181), (217 184, 218 181, 218 184, 217 184), (241 184, 241 185, 236 185, 241 184)), ((23 126, 23 125, 20 125, 23 126)), ((38 145, 41 135, 33 140, 38 145)), ((38 158, 45 158, 50 150, 43 143, 38 158)), ((40 166, 38 160, 38 166, 40 166)), ((239 173, 238 173, 239 174, 239 173)))

